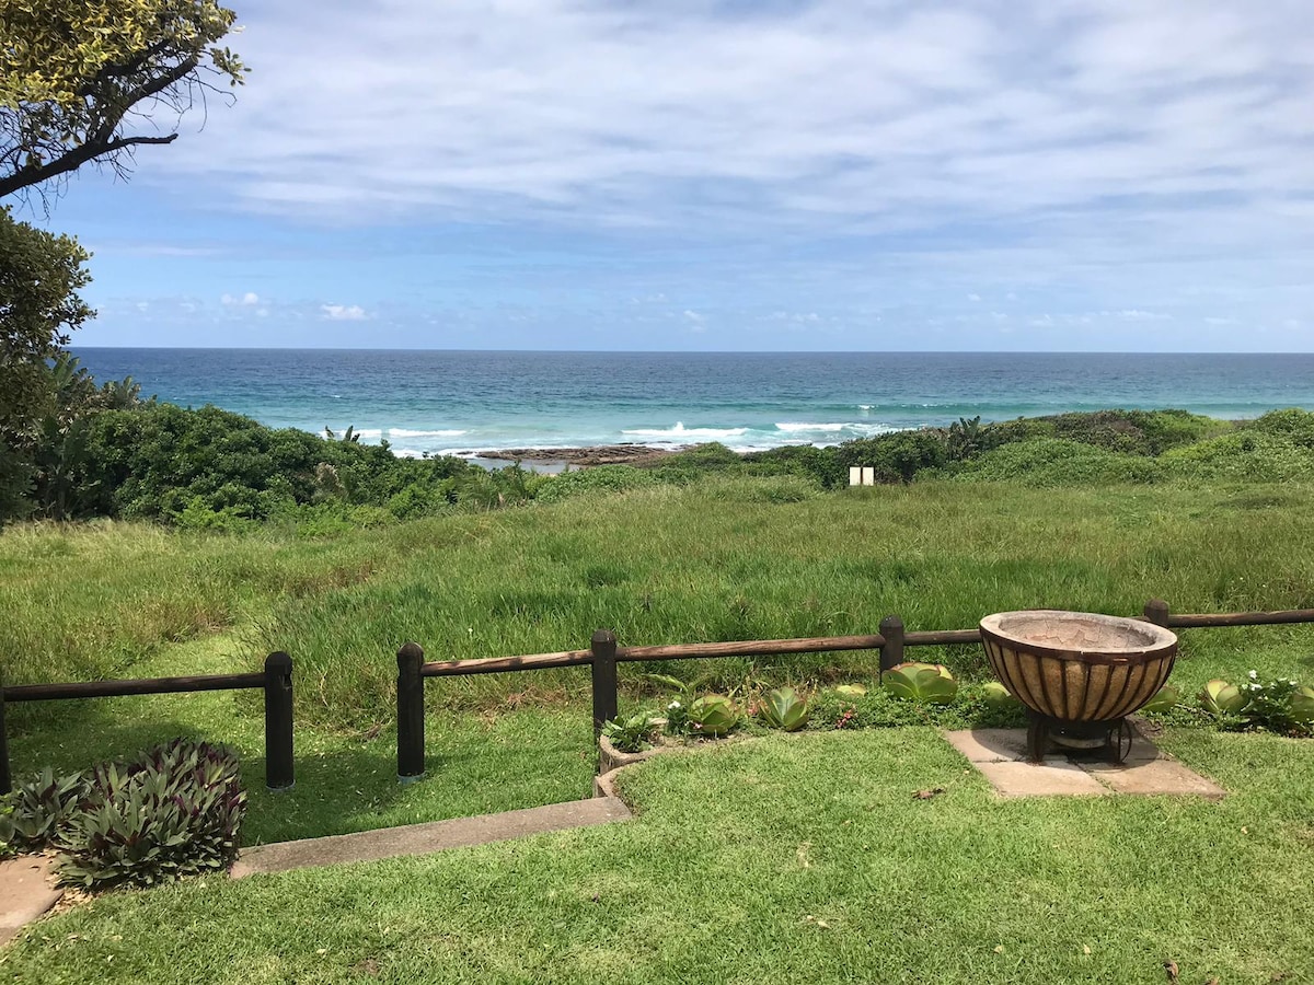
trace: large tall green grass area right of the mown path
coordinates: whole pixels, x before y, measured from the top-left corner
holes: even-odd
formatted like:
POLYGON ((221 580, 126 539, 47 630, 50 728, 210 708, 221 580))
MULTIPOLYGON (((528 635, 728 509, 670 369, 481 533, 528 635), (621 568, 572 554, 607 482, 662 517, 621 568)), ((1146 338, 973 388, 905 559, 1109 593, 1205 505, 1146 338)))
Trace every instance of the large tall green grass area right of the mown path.
MULTIPOLYGON (((277 604, 251 659, 288 649, 304 713, 359 726, 390 718, 393 653, 406 640, 428 659, 456 659, 582 649, 599 626, 643 645, 872 633, 888 613, 911 629, 967 628, 1012 608, 1135 615, 1151 596, 1176 611, 1314 607, 1314 524, 1289 487, 946 482, 774 503, 753 495, 762 482, 411 524, 386 571, 277 604)), ((1201 630, 1185 637, 1185 676, 1242 665, 1290 672, 1292 647, 1314 650, 1309 640, 1300 628, 1201 630)), ((982 663, 976 647, 918 655, 968 676, 982 663)), ((643 670, 711 672, 729 687, 870 674, 874 662, 823 654, 623 671, 631 683, 643 670)), ((428 692, 460 708, 585 687, 583 671, 558 671, 444 679, 428 692)))

